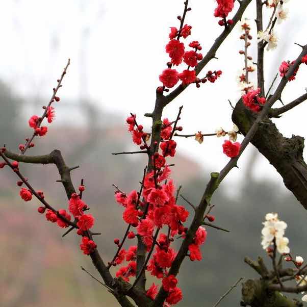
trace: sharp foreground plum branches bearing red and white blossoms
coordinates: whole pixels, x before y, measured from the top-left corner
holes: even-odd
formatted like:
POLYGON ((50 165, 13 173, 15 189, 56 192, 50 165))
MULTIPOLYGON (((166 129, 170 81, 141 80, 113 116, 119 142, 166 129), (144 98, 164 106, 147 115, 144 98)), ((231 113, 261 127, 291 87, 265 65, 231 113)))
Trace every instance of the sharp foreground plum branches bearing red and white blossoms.
MULTIPOLYGON (((62 87, 70 60, 60 79, 57 80, 57 86, 53 89, 49 103, 43 107, 43 114, 33 115, 29 119, 33 134, 26 138, 24 143, 19 144, 20 153, 16 154, 5 146, 0 149, 3 160, 0 168, 7 166, 6 168, 10 168, 18 176, 20 197, 24 201, 31 201, 36 197, 41 203, 37 209, 38 213, 60 228, 68 228, 63 236, 72 231, 80 236, 81 251, 89 255, 103 278, 103 282, 100 283, 115 296, 121 306, 130 307, 136 304, 166 307, 183 299, 176 278, 181 265, 187 260, 192 262, 202 260, 200 246, 206 243, 209 227, 227 231, 213 224, 215 216, 210 214, 213 209, 211 198, 225 176, 237 166, 242 152, 249 143, 257 147, 270 161, 284 178, 286 187, 293 192, 302 206, 307 208, 307 167, 302 158, 303 138, 283 137, 271 120, 298 106, 307 98, 307 94, 303 94, 281 108, 273 108, 275 102, 282 99, 283 90, 288 82, 296 79, 300 65, 307 64, 307 45, 297 44, 301 50, 295 60, 280 59, 281 79, 271 95, 269 93, 272 86, 266 91, 264 83, 265 50, 270 52, 278 43, 274 29, 276 23, 279 24, 287 18, 288 9, 285 3, 288 1, 216 0, 216 2, 213 18, 218 18, 216 26, 222 27, 222 31, 206 54, 202 54, 201 42, 190 40, 193 28, 186 23, 188 12, 191 11, 189 0, 184 2, 183 14, 177 17, 178 25, 170 28, 169 41, 165 47, 169 59, 166 68, 159 75, 161 85, 156 90, 154 110, 145 114, 152 119, 151 131, 144 131, 139 115, 134 112, 126 119, 127 130, 131 133, 133 143, 139 146, 140 150, 113 154, 144 154, 148 161, 147 165, 144 165, 138 189, 124 192, 114 185, 115 200, 122 206, 122 220, 127 228, 122 239, 114 238, 116 251, 112 260, 106 262, 98 251, 99 246, 95 243, 94 236, 99 233, 93 231, 97 221, 92 214, 87 213, 89 207, 83 200, 84 181, 82 180, 78 190, 72 185, 70 173, 75 167, 70 168, 65 164, 59 150, 53 150, 50 154, 42 156, 25 155, 35 145, 34 141, 38 137, 45 137, 48 133, 48 126, 43 125, 44 122, 51 124, 55 120, 56 105, 60 103, 58 92, 62 87), (250 16, 250 19, 243 18, 243 13, 251 3, 255 4, 255 16, 250 16), (263 20, 263 10, 271 11, 267 25, 263 20), (255 27, 258 31, 258 41, 255 42, 258 55, 255 65, 248 54, 248 47, 254 42, 250 35, 250 29, 253 27, 250 22, 252 18, 255 18, 255 27), (239 50, 239 54, 244 56, 244 67, 238 76, 242 98, 233 107, 233 130, 224 131, 220 127, 215 133, 202 134, 198 131, 194 134, 180 134, 183 127, 178 123, 183 114, 183 106, 172 119, 163 117, 163 109, 191 85, 195 85, 196 88, 201 85, 210 86, 210 83, 218 82, 218 79, 222 78, 222 70, 218 67, 206 73, 203 73, 203 69, 211 60, 217 59, 218 48, 237 24, 241 30, 240 39, 244 42, 244 50, 239 50), (251 82, 252 72, 257 72, 257 85, 251 82), (207 85, 204 85, 206 83, 207 85), (171 88, 174 89, 170 91, 171 88), (237 141, 238 134, 242 137, 241 142, 237 141), (201 144, 203 138, 209 136, 228 137, 228 140, 224 140, 221 144, 221 150, 230 160, 220 172, 211 173, 211 179, 204 188, 199 204, 195 206, 180 194, 180 187, 174 186, 171 177, 173 165, 169 162, 176 155, 177 143, 174 139, 194 137, 201 144), (45 199, 44 193, 31 185, 31 180, 24 177, 20 170, 22 163, 54 164, 57 167, 61 176, 60 182, 68 198, 66 209, 53 207, 45 199), (178 204, 179 196, 193 209, 193 220, 189 225, 186 223, 189 212, 178 204), (136 243, 125 249, 123 246, 128 242, 127 239, 136 243), (174 239, 181 242, 178 250, 173 247, 174 239), (112 266, 118 267, 115 276, 110 272, 112 266), (159 284, 147 285, 146 274, 155 276, 159 284)), ((276 213, 268 213, 263 224, 261 244, 267 251, 268 257, 272 259, 272 269, 268 269, 261 258, 258 262, 245 259, 245 262, 260 274, 260 278, 244 282, 241 305, 254 307, 302 305, 298 300, 287 298, 283 294, 307 290, 307 266, 302 266, 302 257, 294 258, 290 253, 289 239, 284 237, 287 224, 279 220, 276 213), (277 253, 280 254, 278 261, 276 261, 277 253), (283 268, 285 262, 291 263, 294 267, 283 268), (296 284, 285 285, 291 281, 296 284)), ((237 284, 238 282, 233 287, 237 284)), ((302 297, 302 301, 307 301, 306 295, 302 297)))

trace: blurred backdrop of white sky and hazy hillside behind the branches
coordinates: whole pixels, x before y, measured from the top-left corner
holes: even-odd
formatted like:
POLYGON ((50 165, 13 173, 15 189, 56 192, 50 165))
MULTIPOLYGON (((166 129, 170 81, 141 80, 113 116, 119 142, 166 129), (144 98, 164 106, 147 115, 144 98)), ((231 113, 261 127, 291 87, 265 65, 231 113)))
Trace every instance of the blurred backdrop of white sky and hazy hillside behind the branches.
MULTIPOLYGON (((193 27, 190 39, 199 40, 206 54, 221 32, 213 17, 216 4, 193 0, 190 4, 192 11, 186 19, 193 27)), ((289 19, 276 25, 278 47, 266 52, 266 88, 280 63, 294 60, 300 53, 294 42, 306 43, 303 5, 303 0, 290 1, 289 19)), ((146 165, 143 156, 112 156, 111 152, 138 150, 125 125, 130 112, 136 113, 138 122, 149 131, 150 120, 143 114, 154 108, 158 76, 168 61, 164 49, 169 27, 178 27, 176 16, 182 11, 183 1, 178 0, 2 3, 0 144, 17 151, 18 144, 31 135, 28 119, 42 113, 41 107, 48 103, 70 58, 71 65, 59 91, 61 100, 54 105, 56 120, 45 137, 36 139, 36 146, 28 154, 46 154, 57 148, 69 166, 81 166, 72 172, 73 182, 78 186, 85 178, 84 200, 96 217, 95 231, 103 234, 96 241, 106 262, 115 253, 113 239, 121 238, 125 228, 112 184, 126 192, 137 189, 146 165)), ((255 38, 253 11, 254 3, 244 16, 251 19, 255 38)), ((265 14, 266 22, 268 16, 265 14)), ((228 99, 235 104, 240 97, 236 76, 243 67, 243 58, 238 54, 243 48, 239 36, 239 30, 234 30, 218 50, 218 60, 206 67, 223 71, 216 83, 204 84, 200 89, 189 87, 165 109, 164 116, 173 120, 178 107, 184 105, 183 133, 212 133, 219 126, 232 128, 228 99)), ((255 43, 250 50, 254 56, 255 43)), ((254 78, 255 73, 251 75, 254 78)), ((306 76, 307 70, 301 67, 297 80, 283 94, 284 103, 305 92, 306 76)), ((273 89, 279 80, 278 77, 273 89)), ((302 124, 306 108, 302 104, 275 120, 285 136, 306 135, 302 124)), ((182 193, 197 204, 210 172, 219 171, 228 161, 221 150, 223 140, 205 138, 201 145, 192 138, 176 141, 172 177, 177 186, 183 186, 182 193)), ((20 169, 56 208, 67 206, 65 192, 56 183, 59 175, 54 166, 21 165, 20 169)), ((48 307, 56 302, 57 306, 117 306, 106 289, 80 269, 82 265, 99 278, 89 257, 81 254, 79 238, 70 234, 63 239, 59 227, 38 215, 36 200, 25 203, 18 192, 16 176, 8 168, 1 170, 0 305, 48 307)), ((207 229, 203 260, 187 260, 182 266, 179 286, 184 299, 178 305, 211 306, 239 277, 255 276, 243 259, 246 255, 254 259, 258 255, 266 257, 260 242, 261 222, 267 212, 278 212, 288 223, 286 234, 293 255, 307 257, 306 212, 252 145, 240 158, 239 169, 234 169, 220 186, 213 203, 216 224, 231 232, 207 229)), ((127 242, 127 246, 130 244, 134 242, 127 242)), ((237 287, 220 306, 237 306, 239 301, 237 287)))

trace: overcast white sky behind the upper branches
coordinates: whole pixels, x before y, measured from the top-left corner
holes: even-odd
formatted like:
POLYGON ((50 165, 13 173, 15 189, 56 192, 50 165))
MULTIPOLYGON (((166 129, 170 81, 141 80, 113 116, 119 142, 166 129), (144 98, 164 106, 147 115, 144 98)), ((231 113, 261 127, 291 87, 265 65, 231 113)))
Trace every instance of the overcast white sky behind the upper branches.
MULTIPOLYGON (((180 0, 11 0, 2 1, 0 27, 2 29, 2 49, 0 58, 0 78, 7 81, 21 95, 39 94, 48 97, 50 89, 61 73, 61 69, 71 58, 71 66, 61 91, 64 99, 78 99, 86 96, 102 109, 120 114, 124 118, 129 112, 140 118, 152 111, 155 89, 160 85, 158 76, 166 67, 168 56, 165 44, 169 27, 177 27, 177 15, 183 11, 180 0), (85 35, 86 34, 86 35, 85 35)), ((254 2, 245 16, 254 19, 254 2)), ((214 0, 190 0, 192 11, 186 22, 192 25, 190 40, 198 40, 203 54, 212 45, 222 29, 213 17, 216 7, 214 0)), ((266 52, 265 73, 267 87, 270 85, 279 64, 283 60, 293 60, 300 53, 294 42, 305 41, 305 0, 290 0, 289 19, 276 26, 279 36, 278 47, 266 52)), ((234 12, 237 10, 236 3, 234 12)), ((234 15, 234 12, 230 16, 234 15)), ((267 21, 268 22, 268 19, 267 21)), ((255 26, 252 21, 251 24, 255 26)), ((255 29, 252 30, 255 37, 255 29)), ((222 78, 215 84, 205 84, 200 89, 190 86, 166 109, 165 116, 174 118, 180 105, 184 105, 181 125, 184 133, 201 130, 212 133, 216 127, 231 129, 231 108, 239 97, 236 75, 243 65, 238 50, 242 41, 239 31, 234 31, 217 52, 219 60, 213 60, 206 67, 221 69, 222 78)), ((255 43, 253 44, 254 52, 255 43)), ((206 72, 204 72, 206 73, 206 72)), ((254 74, 255 75, 255 74, 254 74)), ((305 92, 307 66, 301 67, 297 79, 291 82, 283 95, 288 101, 305 92)), ((277 79, 277 82, 280 78, 277 79)), ((304 114, 307 106, 302 104, 277 120, 284 135, 305 136, 307 127, 304 114)), ((30 116, 32 111, 29 111, 30 116)), ((59 122, 67 114, 57 114, 59 122)), ((139 119, 149 126, 148 119, 139 119)), ((121 123, 119 123, 121 124, 121 123)), ((239 137, 239 141, 241 138, 239 137)), ((219 171, 227 162, 222 154, 223 140, 207 138, 202 145, 192 139, 181 139, 178 150, 207 165, 210 171, 219 171)), ((250 146, 251 147, 251 146, 250 146)), ((231 178, 242 178, 244 164, 248 161, 246 150, 239 166, 233 170, 231 178)), ((305 157, 307 157, 305 155, 305 157)), ((282 184, 279 175, 268 162, 259 159, 255 175, 259 178, 274 177, 282 184)), ((227 180, 230 182, 231 180, 227 180)))

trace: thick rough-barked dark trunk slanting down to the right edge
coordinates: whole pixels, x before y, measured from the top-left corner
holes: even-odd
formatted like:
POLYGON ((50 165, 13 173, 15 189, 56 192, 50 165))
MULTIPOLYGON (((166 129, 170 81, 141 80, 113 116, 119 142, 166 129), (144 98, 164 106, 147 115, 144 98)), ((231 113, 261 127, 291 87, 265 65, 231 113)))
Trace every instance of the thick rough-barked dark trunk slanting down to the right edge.
MULTIPOLYGON (((232 119, 245 136, 257 118, 257 114, 247 110, 242 100, 236 105, 232 119)), ((307 165, 303 160, 304 138, 284 137, 276 125, 268 118, 262 121, 251 143, 268 159, 283 177, 285 186, 307 209, 307 165)))

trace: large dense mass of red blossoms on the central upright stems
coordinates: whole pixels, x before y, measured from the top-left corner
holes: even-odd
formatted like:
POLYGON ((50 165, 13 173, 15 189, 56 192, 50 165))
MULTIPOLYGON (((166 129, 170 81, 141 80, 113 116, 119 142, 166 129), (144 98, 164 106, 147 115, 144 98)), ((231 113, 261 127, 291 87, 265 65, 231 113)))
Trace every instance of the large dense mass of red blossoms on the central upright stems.
MULTIPOLYGON (((134 131, 135 119, 136 116, 132 115, 126 120, 130 132, 134 131)), ((182 299, 182 291, 177 287, 177 279, 174 275, 169 275, 168 270, 176 257, 176 251, 171 247, 171 243, 175 236, 185 238, 188 228, 184 226, 184 223, 189 216, 185 207, 176 203, 176 188, 170 178, 170 166, 166 163, 166 158, 174 157, 176 153, 176 142, 172 140, 175 130, 182 130, 182 127, 176 127, 174 122, 164 118, 160 134, 160 150, 156 148, 157 151, 150 158, 151 167, 144 175, 142 192, 136 190, 130 193, 120 190, 115 192, 116 201, 124 209, 122 215, 124 222, 129 227, 135 228, 127 237, 134 239, 137 234, 146 246, 147 252, 152 252, 146 270, 151 275, 162 279, 163 288, 168 292, 167 304, 176 304, 182 299), (158 236, 163 227, 167 227, 167 234, 160 233, 158 236)), ((206 241, 206 238, 207 231, 200 226, 192 244, 189 245, 188 255, 191 261, 202 259, 200 245, 206 241)), ((123 261, 128 262, 116 272, 116 276, 129 282, 130 277, 136 274, 137 246, 132 245, 125 250, 119 239, 115 239, 114 243, 119 246, 119 249, 110 265, 116 266, 123 261)), ((146 295, 154 299, 157 292, 158 286, 152 284, 146 295)))

